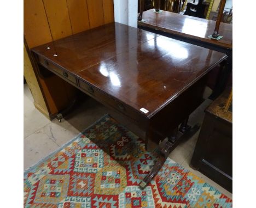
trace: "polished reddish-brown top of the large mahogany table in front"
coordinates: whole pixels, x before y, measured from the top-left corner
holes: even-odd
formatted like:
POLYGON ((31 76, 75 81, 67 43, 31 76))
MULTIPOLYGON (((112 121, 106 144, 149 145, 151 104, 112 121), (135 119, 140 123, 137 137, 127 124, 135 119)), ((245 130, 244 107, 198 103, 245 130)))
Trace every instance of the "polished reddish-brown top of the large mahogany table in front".
POLYGON ((148 118, 226 58, 217 51, 120 23, 32 51, 148 118))

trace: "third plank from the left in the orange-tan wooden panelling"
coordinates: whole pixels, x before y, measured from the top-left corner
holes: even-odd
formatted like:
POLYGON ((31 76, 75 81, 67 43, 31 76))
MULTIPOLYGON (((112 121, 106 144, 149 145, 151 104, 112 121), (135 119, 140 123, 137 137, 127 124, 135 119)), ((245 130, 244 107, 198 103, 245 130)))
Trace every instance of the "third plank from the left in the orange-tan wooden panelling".
POLYGON ((90 29, 87 0, 67 0, 73 34, 90 29))

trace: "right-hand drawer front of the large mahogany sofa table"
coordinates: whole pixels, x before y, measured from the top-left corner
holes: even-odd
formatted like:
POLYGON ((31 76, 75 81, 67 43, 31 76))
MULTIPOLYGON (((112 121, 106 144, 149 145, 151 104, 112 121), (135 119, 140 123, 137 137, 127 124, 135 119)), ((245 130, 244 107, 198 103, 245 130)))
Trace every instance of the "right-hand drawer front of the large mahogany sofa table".
POLYGON ((135 109, 130 108, 129 106, 121 103, 118 100, 115 100, 112 96, 103 93, 103 91, 97 89, 96 87, 78 79, 79 88, 85 91, 88 95, 93 97, 95 100, 98 100, 104 105, 110 106, 116 109, 118 112, 121 112, 133 120, 143 119, 144 117, 138 113, 135 109))

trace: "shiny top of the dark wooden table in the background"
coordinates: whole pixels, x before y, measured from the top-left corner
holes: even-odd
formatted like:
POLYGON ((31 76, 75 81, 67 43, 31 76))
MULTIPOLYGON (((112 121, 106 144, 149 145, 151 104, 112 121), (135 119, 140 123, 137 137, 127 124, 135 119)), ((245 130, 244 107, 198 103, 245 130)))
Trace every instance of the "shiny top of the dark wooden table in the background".
POLYGON ((159 29, 163 32, 181 35, 184 38, 191 38, 208 42, 221 47, 232 48, 232 25, 220 23, 219 34, 223 36, 220 40, 208 38, 214 31, 216 21, 201 19, 188 15, 172 13, 170 11, 161 11, 155 13, 154 9, 143 12, 143 20, 138 21, 139 26, 159 29))

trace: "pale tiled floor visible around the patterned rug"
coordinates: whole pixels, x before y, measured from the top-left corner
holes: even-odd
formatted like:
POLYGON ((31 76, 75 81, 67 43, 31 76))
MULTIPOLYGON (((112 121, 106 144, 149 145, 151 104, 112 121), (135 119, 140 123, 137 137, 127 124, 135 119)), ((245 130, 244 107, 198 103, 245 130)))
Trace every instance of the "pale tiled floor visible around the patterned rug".
MULTIPOLYGON (((211 103, 206 100, 196 111, 190 116, 190 125, 201 124, 203 120, 203 110, 211 103)), ((143 132, 127 121, 124 121, 117 113, 110 111, 93 99, 87 99, 72 111, 68 117, 50 121, 44 117, 33 105, 33 97, 27 84, 24 85, 24 169, 32 166, 51 152, 59 148, 62 144, 68 142, 75 137, 80 131, 83 131, 100 119, 104 114, 109 113, 113 118, 122 123, 138 136, 143 136, 143 132), (124 123, 125 122, 125 123, 124 123)), ((191 156, 199 131, 189 140, 180 144, 171 154, 172 160, 182 164, 185 168, 210 183, 219 191, 232 198, 232 194, 220 187, 217 183, 208 179, 205 175, 193 170, 189 167, 191 156)))

